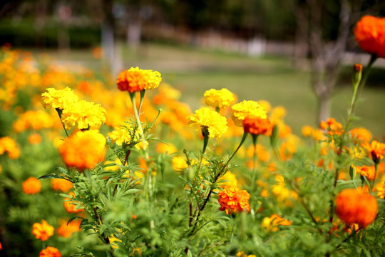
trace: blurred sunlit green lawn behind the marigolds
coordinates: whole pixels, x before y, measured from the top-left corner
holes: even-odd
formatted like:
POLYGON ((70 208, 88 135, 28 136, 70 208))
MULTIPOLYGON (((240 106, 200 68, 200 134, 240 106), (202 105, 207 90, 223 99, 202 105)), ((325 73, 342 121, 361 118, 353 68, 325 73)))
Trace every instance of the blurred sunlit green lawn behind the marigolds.
MULTIPOLYGON (((285 121, 294 133, 300 133, 305 124, 317 125, 317 98, 310 86, 309 71, 292 69, 292 61, 272 56, 248 57, 221 51, 205 51, 188 46, 143 44, 138 49, 120 46, 123 67, 139 66, 160 71, 163 81, 173 84, 183 93, 183 101, 192 111, 202 106, 202 96, 208 89, 227 88, 238 99, 265 99, 272 106, 287 109, 285 121)), ((79 61, 92 69, 106 63, 91 58, 90 51, 55 54, 54 58, 79 61)), ((351 98, 349 85, 339 86, 332 97, 332 116, 344 121, 351 98)), ((369 129, 381 139, 385 132, 385 87, 369 87, 362 91, 356 115, 356 125, 369 129)))

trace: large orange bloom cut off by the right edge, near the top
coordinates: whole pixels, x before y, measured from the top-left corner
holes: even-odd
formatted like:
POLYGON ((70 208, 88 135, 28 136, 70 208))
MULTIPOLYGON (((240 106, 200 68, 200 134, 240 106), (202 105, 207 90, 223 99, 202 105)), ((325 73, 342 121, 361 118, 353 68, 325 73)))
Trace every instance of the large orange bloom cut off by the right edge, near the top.
POLYGON ((385 18, 363 16, 356 24, 354 36, 362 50, 385 58, 385 18))

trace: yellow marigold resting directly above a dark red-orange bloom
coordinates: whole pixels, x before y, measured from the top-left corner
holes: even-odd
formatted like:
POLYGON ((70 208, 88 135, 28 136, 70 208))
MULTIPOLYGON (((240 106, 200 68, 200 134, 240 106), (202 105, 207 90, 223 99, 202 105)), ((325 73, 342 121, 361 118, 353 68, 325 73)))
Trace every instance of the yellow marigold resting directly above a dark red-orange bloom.
POLYGON ((260 119, 266 119, 266 111, 256 101, 242 101, 231 106, 231 119, 235 125, 243 126, 243 120, 247 116, 255 116, 260 119))

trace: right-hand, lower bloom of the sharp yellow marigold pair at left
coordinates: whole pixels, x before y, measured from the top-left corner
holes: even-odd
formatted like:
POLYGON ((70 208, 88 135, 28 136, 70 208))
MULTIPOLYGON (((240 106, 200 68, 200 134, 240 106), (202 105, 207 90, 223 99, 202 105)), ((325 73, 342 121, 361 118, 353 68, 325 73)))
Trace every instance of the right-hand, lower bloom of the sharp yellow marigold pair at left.
POLYGON ((78 129, 88 129, 106 122, 106 110, 100 104, 82 100, 63 109, 61 120, 66 129, 75 124, 78 124, 78 129))

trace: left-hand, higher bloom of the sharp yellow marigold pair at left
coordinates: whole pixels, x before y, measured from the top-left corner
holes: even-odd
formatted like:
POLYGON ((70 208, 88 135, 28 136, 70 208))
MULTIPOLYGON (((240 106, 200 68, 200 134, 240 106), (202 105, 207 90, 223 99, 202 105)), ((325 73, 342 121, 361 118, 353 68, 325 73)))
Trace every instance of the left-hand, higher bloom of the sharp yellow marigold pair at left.
POLYGON ((78 96, 73 93, 72 89, 56 90, 53 88, 46 89, 48 92, 41 94, 41 105, 44 109, 66 109, 69 104, 78 101, 78 96))

